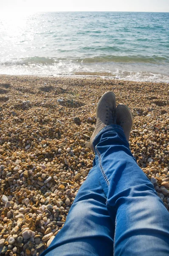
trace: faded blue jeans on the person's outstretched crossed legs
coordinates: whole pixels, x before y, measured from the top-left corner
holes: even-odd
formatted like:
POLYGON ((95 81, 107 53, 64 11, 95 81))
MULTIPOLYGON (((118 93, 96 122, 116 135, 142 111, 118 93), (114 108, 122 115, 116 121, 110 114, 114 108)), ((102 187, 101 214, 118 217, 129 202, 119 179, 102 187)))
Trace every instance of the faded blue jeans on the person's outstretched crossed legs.
POLYGON ((121 126, 103 128, 93 145, 93 168, 41 256, 169 256, 169 212, 121 126))

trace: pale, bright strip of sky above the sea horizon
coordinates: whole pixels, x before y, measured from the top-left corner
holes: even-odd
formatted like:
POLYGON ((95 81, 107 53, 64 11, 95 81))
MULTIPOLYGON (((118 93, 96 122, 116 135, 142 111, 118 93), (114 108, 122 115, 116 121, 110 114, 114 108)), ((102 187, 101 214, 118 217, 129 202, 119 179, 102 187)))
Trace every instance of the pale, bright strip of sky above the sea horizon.
POLYGON ((0 0, 1 12, 169 12, 169 0, 0 0))

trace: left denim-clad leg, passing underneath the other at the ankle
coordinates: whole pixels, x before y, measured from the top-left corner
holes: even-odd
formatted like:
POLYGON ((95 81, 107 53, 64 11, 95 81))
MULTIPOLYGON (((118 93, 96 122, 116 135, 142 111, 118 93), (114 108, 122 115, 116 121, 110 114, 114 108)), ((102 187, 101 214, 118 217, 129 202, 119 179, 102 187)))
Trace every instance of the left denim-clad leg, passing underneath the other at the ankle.
POLYGON ((41 256, 113 255, 115 225, 106 207, 106 197, 97 175, 90 170, 70 208, 65 225, 41 256))

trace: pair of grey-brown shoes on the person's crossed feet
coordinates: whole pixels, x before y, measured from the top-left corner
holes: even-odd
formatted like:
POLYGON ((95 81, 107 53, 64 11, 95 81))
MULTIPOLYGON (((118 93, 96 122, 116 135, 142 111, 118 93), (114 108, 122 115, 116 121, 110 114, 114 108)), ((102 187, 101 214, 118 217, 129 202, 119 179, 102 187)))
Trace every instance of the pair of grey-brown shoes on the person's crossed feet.
POLYGON ((124 104, 119 104, 116 108, 115 93, 104 93, 98 102, 96 109, 96 127, 90 138, 90 148, 94 151, 93 140, 96 135, 107 125, 120 125, 129 141, 130 132, 133 125, 133 118, 130 108, 124 104))

